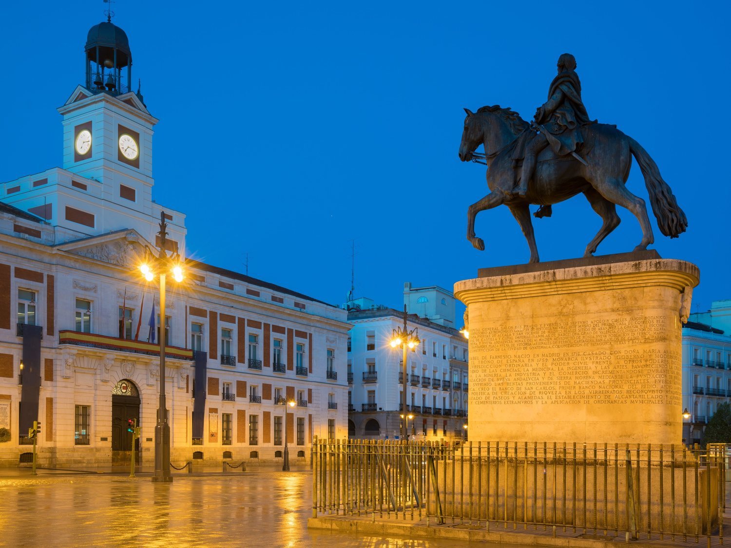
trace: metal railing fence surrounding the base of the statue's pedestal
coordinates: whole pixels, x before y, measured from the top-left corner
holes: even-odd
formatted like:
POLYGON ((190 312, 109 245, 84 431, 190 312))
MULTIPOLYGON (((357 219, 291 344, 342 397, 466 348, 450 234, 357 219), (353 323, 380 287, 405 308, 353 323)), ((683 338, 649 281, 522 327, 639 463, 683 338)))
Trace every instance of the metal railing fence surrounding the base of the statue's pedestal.
POLYGON ((315 439, 312 515, 722 542, 726 454, 723 444, 315 439))

